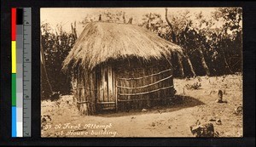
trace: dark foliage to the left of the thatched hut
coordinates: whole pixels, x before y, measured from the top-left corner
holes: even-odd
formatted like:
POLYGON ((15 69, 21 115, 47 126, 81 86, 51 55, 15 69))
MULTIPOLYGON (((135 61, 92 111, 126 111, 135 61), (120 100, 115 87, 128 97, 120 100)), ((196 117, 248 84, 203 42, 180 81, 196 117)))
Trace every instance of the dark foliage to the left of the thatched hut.
MULTIPOLYGON (((44 65, 49 78, 49 83, 53 88, 53 92, 62 94, 70 93, 71 77, 68 73, 61 71, 62 61, 67 57, 67 54, 73 48, 76 36, 73 33, 68 33, 62 30, 61 25, 57 25, 57 30, 50 28, 48 23, 41 25, 41 44, 44 51, 44 65)), ((42 99, 48 99, 52 94, 47 82, 45 71, 41 64, 41 80, 42 80, 42 99)))

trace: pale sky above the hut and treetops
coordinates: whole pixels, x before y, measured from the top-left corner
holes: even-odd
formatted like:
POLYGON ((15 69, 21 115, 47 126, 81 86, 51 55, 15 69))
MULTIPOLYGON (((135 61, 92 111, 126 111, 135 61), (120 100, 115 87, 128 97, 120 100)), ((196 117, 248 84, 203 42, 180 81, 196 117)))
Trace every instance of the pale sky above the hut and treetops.
MULTIPOLYGON (((168 14, 179 14, 189 10, 191 17, 202 12, 202 14, 209 18, 215 8, 168 8, 168 14)), ((40 20, 49 23, 52 28, 57 24, 61 24, 64 31, 71 31, 71 23, 77 22, 78 35, 84 30, 83 25, 79 24, 84 17, 88 15, 102 14, 103 12, 125 12, 125 15, 135 18, 133 22, 141 19, 143 14, 156 13, 160 14, 162 20, 165 20, 165 8, 41 8, 40 20), (137 19, 137 20, 136 20, 137 19)), ((128 18, 126 19, 126 21, 128 18)))

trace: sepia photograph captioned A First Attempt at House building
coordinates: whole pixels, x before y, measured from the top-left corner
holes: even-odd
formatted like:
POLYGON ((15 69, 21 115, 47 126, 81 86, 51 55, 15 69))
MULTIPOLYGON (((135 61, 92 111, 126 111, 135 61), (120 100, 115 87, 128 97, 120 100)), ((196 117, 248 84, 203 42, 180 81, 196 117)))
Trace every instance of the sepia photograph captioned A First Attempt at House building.
POLYGON ((242 8, 40 8, 41 137, 243 137, 242 8))

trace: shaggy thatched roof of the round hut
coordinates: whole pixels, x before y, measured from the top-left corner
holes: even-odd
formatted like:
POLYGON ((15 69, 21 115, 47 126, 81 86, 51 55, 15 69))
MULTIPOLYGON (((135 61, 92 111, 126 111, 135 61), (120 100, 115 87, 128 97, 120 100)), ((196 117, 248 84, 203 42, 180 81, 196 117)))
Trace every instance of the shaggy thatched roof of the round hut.
POLYGON ((73 49, 64 60, 67 66, 82 65, 92 69, 108 59, 137 57, 170 59, 172 52, 182 54, 182 48, 137 25, 92 22, 84 27, 73 49))

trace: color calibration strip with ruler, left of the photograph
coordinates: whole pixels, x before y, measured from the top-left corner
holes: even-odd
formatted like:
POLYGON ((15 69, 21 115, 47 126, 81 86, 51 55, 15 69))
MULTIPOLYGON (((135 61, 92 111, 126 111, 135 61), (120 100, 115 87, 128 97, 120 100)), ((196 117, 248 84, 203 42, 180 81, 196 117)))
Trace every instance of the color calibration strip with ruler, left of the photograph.
POLYGON ((31 8, 11 9, 12 137, 31 137, 31 8))

